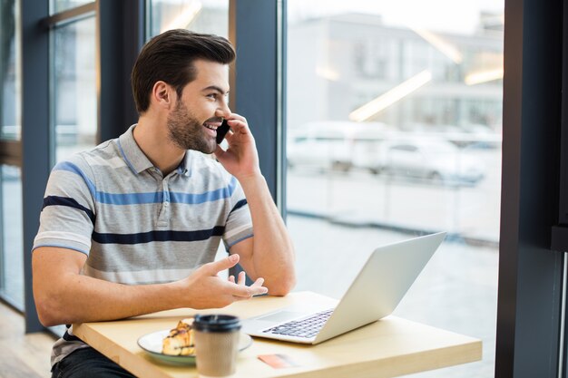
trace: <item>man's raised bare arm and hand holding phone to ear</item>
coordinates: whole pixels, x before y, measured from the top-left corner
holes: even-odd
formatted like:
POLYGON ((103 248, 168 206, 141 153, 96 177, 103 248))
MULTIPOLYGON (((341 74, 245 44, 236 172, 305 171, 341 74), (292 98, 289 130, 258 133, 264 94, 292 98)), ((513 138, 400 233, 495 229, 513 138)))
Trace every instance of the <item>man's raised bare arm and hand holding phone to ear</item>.
POLYGON ((269 294, 285 296, 296 284, 294 247, 279 210, 260 173, 258 153, 247 121, 237 114, 229 120, 229 149, 215 155, 240 182, 250 208, 254 237, 230 248, 240 255, 240 265, 252 278, 264 277, 269 294))

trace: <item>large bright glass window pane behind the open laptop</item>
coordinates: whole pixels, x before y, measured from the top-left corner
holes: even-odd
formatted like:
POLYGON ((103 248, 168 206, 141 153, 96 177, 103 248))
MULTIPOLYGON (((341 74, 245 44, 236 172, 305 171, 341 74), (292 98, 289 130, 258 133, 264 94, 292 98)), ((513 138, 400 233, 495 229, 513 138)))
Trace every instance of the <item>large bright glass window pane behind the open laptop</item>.
POLYGON ((483 361, 421 376, 494 374, 503 18, 503 0, 288 2, 297 289, 339 297, 374 248, 448 231, 396 315, 481 338, 483 361))

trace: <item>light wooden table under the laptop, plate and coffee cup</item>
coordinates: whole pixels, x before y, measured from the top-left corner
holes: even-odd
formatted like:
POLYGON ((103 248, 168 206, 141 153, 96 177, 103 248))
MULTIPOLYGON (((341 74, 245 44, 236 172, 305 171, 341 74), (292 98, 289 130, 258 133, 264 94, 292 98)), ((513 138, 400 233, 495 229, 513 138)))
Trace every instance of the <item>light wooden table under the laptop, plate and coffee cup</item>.
MULTIPOLYGON (((223 313, 241 318, 301 303, 337 301, 311 292, 285 297, 260 296, 218 310, 177 309, 131 319, 73 325, 74 334, 139 377, 197 378, 194 366, 157 363, 138 346, 143 334, 171 329, 178 320, 197 313, 223 313)), ((264 377, 394 377, 481 359, 481 341, 428 325, 387 316, 371 325, 342 334, 322 344, 299 345, 255 338, 240 352, 234 378, 264 377), (275 369, 260 354, 285 354, 297 367, 275 369)))

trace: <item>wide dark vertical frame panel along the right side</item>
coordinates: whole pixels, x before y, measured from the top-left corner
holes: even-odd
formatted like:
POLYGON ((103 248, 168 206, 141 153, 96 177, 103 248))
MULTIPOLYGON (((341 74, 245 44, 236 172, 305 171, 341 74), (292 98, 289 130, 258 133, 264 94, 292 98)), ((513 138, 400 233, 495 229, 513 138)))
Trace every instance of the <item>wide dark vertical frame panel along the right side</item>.
POLYGON ((505 1, 496 377, 558 374, 563 254, 557 203, 562 3, 505 1))

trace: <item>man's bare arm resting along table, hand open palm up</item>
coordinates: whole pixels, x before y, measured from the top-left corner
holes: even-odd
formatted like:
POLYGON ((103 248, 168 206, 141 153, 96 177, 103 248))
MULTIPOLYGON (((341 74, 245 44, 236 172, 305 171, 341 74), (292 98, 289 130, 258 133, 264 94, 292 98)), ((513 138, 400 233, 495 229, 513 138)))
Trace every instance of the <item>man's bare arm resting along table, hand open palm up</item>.
POLYGON ((234 267, 231 255, 205 264, 168 284, 129 286, 80 274, 86 256, 60 247, 38 247, 32 258, 34 300, 45 326, 122 319, 172 308, 213 308, 264 294, 260 278, 251 286, 221 279, 234 267))

